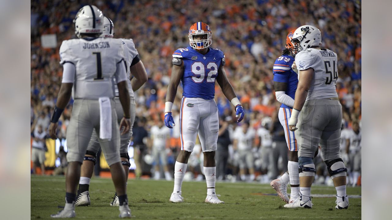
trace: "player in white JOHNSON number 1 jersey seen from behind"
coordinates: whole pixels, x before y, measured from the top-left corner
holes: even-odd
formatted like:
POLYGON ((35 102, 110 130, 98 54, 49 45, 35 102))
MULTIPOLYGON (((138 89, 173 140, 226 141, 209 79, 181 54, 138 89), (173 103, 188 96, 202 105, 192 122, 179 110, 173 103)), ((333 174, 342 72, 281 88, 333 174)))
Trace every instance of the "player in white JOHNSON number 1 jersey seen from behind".
POLYGON ((119 152, 120 129, 123 130, 122 134, 129 131, 131 117, 122 43, 110 38, 99 38, 102 34, 103 14, 94 5, 82 7, 76 14, 74 25, 78 39, 64 40, 60 47, 60 64, 64 67, 63 79, 49 126, 49 135, 57 139, 57 122, 72 93, 73 110, 67 127, 66 203, 64 209, 51 217, 75 216, 80 165, 94 129, 118 193, 120 217, 131 217, 126 177, 119 152), (117 82, 123 108, 120 127, 114 102, 113 77, 117 82))

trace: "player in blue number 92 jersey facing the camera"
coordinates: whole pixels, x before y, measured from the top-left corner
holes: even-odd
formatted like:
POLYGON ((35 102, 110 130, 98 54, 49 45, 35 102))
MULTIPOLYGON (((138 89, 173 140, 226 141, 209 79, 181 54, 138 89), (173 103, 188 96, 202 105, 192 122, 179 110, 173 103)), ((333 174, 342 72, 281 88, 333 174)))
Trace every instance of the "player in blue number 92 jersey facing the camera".
POLYGON ((206 23, 196 22, 189 29, 188 36, 191 47, 181 48, 173 53, 172 74, 165 103, 165 125, 173 128, 175 124, 171 109, 181 81, 183 86, 179 120, 181 151, 174 165, 174 189, 170 201, 183 202, 181 185, 189 156, 195 145, 196 135, 199 135, 204 154, 203 171, 207 182, 205 202, 224 203, 215 193, 214 157, 219 131, 218 108, 214 101, 215 80, 226 98, 235 106, 237 122, 243 119, 244 110, 223 68, 225 55, 221 50, 210 47, 212 44, 210 27, 206 23))

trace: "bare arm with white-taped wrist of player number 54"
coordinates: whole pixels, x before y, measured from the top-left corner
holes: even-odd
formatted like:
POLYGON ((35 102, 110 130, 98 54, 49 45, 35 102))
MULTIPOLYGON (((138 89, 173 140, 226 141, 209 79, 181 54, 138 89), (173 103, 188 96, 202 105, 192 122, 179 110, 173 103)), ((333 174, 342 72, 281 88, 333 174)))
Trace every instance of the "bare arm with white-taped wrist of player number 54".
POLYGON ((314 77, 314 70, 312 68, 299 71, 298 87, 297 87, 297 91, 295 92, 293 114, 290 117, 290 121, 289 121, 289 129, 292 132, 298 129, 296 128, 297 117, 299 111, 302 110, 303 104, 305 104, 310 83, 312 82, 313 77, 314 77))

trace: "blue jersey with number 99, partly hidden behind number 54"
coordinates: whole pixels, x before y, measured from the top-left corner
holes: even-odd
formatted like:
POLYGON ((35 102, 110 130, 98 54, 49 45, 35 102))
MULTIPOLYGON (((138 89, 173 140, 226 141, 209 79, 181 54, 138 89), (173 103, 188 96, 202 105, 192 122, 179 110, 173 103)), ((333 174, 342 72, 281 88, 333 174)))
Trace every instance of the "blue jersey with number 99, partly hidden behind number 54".
MULTIPOLYGON (((291 68, 291 65, 294 62, 294 58, 290 55, 282 55, 276 59, 274 63, 274 81, 287 83, 287 89, 285 94, 292 97, 295 97, 295 91, 297 90, 298 85, 298 74, 294 72, 291 68)), ((285 104, 280 106, 281 108, 292 108, 285 104)))

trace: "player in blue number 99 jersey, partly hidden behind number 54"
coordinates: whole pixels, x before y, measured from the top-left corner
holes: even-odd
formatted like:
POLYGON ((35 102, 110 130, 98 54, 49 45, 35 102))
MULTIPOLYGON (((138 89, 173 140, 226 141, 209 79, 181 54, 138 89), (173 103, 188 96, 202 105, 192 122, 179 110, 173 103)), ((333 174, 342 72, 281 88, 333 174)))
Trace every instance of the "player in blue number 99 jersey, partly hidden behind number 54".
POLYGON ((279 197, 286 203, 292 202, 299 196, 299 174, 298 174, 298 146, 294 132, 289 130, 289 119, 294 105, 294 96, 297 90, 298 74, 292 69, 294 62, 293 47, 291 42, 295 29, 290 31, 286 37, 286 49, 274 63, 274 87, 275 96, 282 105, 279 109, 279 121, 285 130, 287 147, 289 148, 289 162, 287 170, 278 179, 272 180, 271 186, 276 190, 279 197), (290 181, 290 199, 287 196, 287 183, 290 181))

